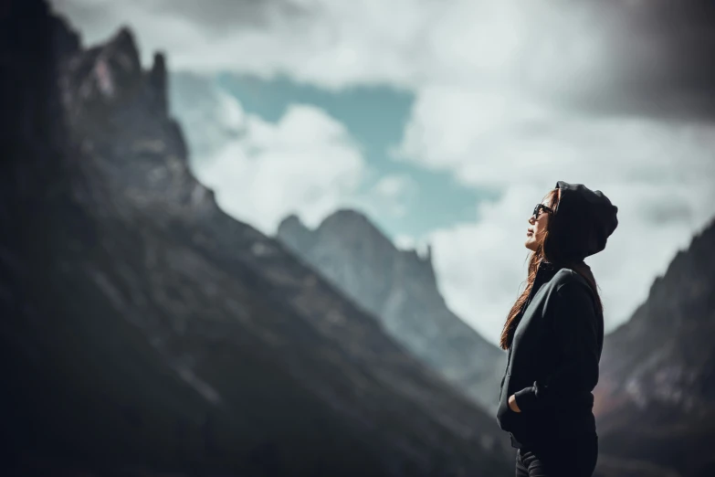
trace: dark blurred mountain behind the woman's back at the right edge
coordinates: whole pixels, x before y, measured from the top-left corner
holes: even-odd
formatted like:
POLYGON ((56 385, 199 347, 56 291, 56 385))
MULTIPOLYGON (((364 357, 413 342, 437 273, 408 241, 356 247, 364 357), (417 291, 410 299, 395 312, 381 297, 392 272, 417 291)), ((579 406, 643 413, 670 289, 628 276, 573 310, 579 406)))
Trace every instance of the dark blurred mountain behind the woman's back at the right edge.
POLYGON ((646 475, 712 475, 713 340, 715 221, 678 252, 631 319, 605 337, 594 408, 605 454, 647 465, 646 475))

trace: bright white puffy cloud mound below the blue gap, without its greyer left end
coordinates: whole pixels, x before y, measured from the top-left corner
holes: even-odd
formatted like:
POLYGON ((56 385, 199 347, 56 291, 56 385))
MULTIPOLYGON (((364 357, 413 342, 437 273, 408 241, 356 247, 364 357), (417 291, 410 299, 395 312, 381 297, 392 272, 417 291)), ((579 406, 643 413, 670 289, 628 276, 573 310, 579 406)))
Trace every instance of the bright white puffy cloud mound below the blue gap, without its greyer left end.
POLYGON ((357 191, 364 166, 342 124, 293 105, 277 124, 251 118, 246 138, 227 144, 199 175, 227 212, 274 233, 290 213, 318 225, 357 191))

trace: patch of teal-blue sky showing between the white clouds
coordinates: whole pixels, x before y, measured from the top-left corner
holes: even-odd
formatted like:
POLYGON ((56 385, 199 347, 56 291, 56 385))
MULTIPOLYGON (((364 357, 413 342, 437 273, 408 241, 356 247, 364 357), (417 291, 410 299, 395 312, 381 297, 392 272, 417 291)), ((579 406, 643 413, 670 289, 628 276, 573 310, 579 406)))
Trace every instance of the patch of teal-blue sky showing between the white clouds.
MULTIPOLYGON (((263 80, 256 76, 220 74, 217 84, 240 101, 244 110, 268 122, 278 122, 291 103, 311 104, 342 122, 360 144, 365 161, 377 173, 408 175, 418 185, 403 217, 371 217, 388 235, 420 238, 435 228, 474 221, 480 200, 498 195, 459 185, 449 172, 397 162, 388 151, 402 140, 414 95, 389 86, 361 86, 331 91, 300 84, 286 77, 263 80)), ((371 187, 373 183, 364 185, 371 187)))

